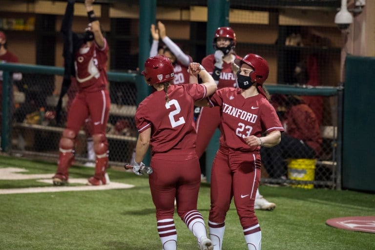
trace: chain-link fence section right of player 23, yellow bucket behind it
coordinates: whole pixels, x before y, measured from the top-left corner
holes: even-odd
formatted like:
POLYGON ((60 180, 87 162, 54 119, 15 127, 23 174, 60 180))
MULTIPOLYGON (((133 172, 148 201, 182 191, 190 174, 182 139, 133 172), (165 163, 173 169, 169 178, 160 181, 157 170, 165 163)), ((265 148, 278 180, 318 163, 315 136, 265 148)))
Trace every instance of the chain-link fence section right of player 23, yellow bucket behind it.
POLYGON ((261 150, 261 181, 305 188, 334 188, 339 157, 339 92, 306 96, 298 93, 298 89, 303 88, 295 89, 296 93, 287 95, 277 90, 270 91, 271 103, 277 110, 285 132, 278 146, 261 150))

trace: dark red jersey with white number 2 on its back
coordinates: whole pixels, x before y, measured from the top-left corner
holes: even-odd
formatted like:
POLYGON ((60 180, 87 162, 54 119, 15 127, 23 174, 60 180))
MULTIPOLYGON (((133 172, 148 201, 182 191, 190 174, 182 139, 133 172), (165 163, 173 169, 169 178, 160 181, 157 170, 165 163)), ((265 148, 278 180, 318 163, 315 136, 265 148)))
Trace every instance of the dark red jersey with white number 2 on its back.
POLYGON ((203 84, 170 85, 166 93, 155 91, 143 100, 135 113, 139 133, 151 127, 151 155, 171 149, 195 148, 194 102, 206 97, 203 84))

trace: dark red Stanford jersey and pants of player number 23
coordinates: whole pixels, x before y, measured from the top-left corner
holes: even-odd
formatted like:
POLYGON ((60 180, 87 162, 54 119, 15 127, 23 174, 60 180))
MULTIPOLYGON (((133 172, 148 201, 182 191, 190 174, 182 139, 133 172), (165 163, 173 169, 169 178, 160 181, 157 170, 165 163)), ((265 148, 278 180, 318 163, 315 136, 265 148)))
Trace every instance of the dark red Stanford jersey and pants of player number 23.
POLYGON ((257 224, 254 201, 260 180, 260 147, 248 146, 244 137, 283 131, 283 126, 261 94, 244 98, 239 88, 223 88, 212 95, 209 104, 219 106, 221 115, 220 148, 211 171, 209 221, 223 223, 234 196, 242 227, 257 224))

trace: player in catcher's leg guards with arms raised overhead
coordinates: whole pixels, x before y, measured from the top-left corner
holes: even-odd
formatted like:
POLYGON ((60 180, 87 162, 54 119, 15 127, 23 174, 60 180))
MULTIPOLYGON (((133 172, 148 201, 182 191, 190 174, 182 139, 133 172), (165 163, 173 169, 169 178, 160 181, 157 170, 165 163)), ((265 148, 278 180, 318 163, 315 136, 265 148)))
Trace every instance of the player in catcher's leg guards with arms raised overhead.
MULTIPOLYGON (((73 33, 73 47, 80 44, 74 60, 75 78, 79 92, 75 96, 69 109, 66 128, 62 132, 59 144, 59 161, 54 185, 63 185, 68 182, 68 169, 74 160, 74 146, 76 137, 86 118, 90 116, 92 125, 92 138, 96 154, 95 174, 88 179, 87 185, 105 185, 109 183, 106 168, 108 167, 108 143, 105 137, 105 128, 108 121, 110 106, 109 93, 106 88, 108 61, 108 44, 103 37, 100 23, 94 14, 92 3, 94 0, 85 0, 89 25, 85 33, 73 33)), ((71 32, 69 19, 74 12, 74 0, 68 1, 64 20, 62 21, 62 33, 66 36, 71 32)), ((71 20, 70 20, 71 21, 71 20)), ((64 49, 65 52, 65 49, 64 49)), ((67 57, 65 55, 65 63, 67 57)), ((65 66, 65 70, 67 70, 65 66)), ((70 76, 69 81, 70 81, 70 76)), ((65 81, 65 76, 64 76, 65 81)))

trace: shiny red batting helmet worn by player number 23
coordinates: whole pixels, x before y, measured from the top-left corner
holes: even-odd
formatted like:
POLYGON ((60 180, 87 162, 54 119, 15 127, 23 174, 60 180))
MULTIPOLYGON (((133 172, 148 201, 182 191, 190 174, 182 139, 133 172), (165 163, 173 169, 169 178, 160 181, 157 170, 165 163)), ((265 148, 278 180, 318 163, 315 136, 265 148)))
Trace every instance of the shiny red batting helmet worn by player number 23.
POLYGON ((266 59, 256 54, 247 54, 242 60, 235 59, 234 63, 240 68, 242 63, 246 63, 254 69, 254 71, 250 73, 252 83, 259 83, 262 85, 267 80, 268 74, 270 73, 270 67, 268 66, 266 59))

